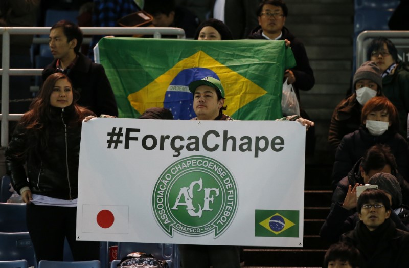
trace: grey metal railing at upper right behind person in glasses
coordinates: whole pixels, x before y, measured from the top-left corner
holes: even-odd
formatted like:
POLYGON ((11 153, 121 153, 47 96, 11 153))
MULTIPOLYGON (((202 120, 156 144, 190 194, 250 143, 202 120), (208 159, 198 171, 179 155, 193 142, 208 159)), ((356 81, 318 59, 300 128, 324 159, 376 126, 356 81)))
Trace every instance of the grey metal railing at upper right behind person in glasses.
POLYGON ((366 61, 367 49, 373 38, 386 37, 395 47, 409 46, 409 31, 363 31, 356 38, 356 68, 366 61))

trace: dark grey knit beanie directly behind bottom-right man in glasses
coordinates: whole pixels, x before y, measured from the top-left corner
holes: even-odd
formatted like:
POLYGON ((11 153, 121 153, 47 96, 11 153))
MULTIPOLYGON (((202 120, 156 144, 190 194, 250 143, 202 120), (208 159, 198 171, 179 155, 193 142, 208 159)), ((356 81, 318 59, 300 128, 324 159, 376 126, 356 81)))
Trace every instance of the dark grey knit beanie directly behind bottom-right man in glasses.
POLYGON ((402 189, 396 177, 392 174, 381 172, 373 175, 369 184, 376 184, 380 190, 392 196, 392 208, 396 209, 402 205, 402 189))

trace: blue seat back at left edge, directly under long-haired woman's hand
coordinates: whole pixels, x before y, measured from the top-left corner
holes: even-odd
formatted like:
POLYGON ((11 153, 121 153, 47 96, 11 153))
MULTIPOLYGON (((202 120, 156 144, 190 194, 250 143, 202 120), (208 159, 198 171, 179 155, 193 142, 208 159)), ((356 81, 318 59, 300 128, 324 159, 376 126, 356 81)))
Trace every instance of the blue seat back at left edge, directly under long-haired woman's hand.
POLYGON ((26 204, 0 203, 0 232, 27 232, 26 204))

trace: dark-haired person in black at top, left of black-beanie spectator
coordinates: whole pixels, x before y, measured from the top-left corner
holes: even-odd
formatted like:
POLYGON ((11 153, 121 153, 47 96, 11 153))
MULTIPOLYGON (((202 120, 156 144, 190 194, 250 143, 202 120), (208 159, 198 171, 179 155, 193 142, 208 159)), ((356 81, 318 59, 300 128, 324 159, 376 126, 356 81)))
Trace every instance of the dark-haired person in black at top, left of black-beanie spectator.
POLYGON ((186 38, 193 38, 199 25, 195 14, 185 7, 176 6, 175 0, 145 1, 144 10, 153 16, 153 26, 184 29, 186 38))

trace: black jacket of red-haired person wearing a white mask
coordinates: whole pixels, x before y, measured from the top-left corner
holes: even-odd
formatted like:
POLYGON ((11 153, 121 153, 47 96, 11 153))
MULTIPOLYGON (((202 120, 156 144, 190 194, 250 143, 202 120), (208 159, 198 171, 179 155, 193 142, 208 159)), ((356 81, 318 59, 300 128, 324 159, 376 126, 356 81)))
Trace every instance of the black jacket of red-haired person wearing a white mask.
POLYGON ((385 144, 391 148, 399 173, 408 180, 409 151, 406 139, 392 130, 387 130, 380 136, 373 136, 365 126, 361 125, 358 130, 345 135, 336 150, 332 184, 335 185, 345 177, 354 164, 375 144, 385 144))

